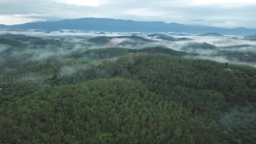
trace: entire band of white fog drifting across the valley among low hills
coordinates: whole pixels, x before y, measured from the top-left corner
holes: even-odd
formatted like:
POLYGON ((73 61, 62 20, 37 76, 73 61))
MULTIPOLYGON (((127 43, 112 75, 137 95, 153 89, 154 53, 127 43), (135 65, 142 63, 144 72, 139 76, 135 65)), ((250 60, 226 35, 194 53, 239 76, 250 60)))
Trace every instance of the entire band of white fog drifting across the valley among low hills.
MULTIPOLYGON (((187 53, 198 53, 197 56, 186 56, 186 58, 192 59, 209 59, 221 63, 228 62, 230 64, 249 65, 256 67, 256 41, 245 40, 240 36, 225 35, 224 37, 201 37, 197 35, 188 36, 172 36, 175 38, 187 37, 193 40, 185 41, 168 41, 157 39, 156 37, 149 37, 148 33, 120 33, 120 32, 85 32, 77 30, 59 30, 48 32, 44 30, 29 29, 24 31, 19 30, 0 30, 0 35, 5 34, 14 35, 28 35, 31 37, 41 37, 44 39, 61 40, 61 44, 49 43, 46 45, 33 45, 30 41, 23 42, 26 44, 26 48, 22 50, 16 48, 11 55, 22 56, 31 55, 28 61, 42 61, 52 56, 63 57, 72 54, 74 52, 83 53, 88 49, 96 48, 108 48, 108 47, 120 47, 120 48, 145 48, 154 46, 163 46, 171 48, 176 51, 185 51, 187 53), (140 40, 133 40, 130 38, 117 38, 117 36, 133 35, 136 34, 140 37, 144 37, 149 40, 155 40, 155 42, 142 42, 140 40), (106 44, 91 43, 88 39, 93 37, 106 36, 113 37, 106 44), (235 39, 232 39, 235 38, 235 39), (199 47, 197 47, 199 45, 199 47), (205 47, 211 46, 211 48, 205 47), (35 48, 36 47, 36 48, 35 48)), ((164 33, 161 33, 164 34, 164 33)), ((168 35, 168 33, 165 33, 168 35)), ((169 35, 170 36, 170 35, 169 35)), ((5 53, 11 47, 9 45, 0 45, 0 53, 5 53)))

